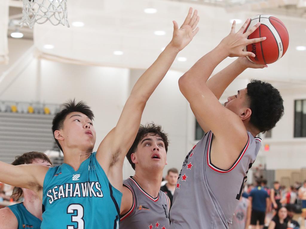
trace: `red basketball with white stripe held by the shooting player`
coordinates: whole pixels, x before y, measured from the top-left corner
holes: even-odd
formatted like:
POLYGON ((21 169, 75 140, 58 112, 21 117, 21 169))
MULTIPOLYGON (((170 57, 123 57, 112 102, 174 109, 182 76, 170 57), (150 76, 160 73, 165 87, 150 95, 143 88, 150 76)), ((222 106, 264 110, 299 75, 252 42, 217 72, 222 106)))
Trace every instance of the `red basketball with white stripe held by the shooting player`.
POLYGON ((278 18, 267 14, 260 14, 251 18, 244 32, 248 31, 258 22, 261 23, 260 26, 248 36, 248 39, 258 37, 267 37, 267 39, 247 45, 244 51, 255 54, 255 57, 247 56, 247 58, 256 64, 272 64, 284 56, 288 49, 288 31, 285 24, 278 18))

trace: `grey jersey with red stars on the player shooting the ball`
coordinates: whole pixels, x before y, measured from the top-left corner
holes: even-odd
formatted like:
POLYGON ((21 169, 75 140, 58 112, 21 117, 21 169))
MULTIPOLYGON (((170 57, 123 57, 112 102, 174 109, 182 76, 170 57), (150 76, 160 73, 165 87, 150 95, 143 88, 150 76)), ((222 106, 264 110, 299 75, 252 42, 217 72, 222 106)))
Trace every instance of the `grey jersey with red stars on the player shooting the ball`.
POLYGON ((230 228, 261 139, 248 132, 244 149, 228 170, 211 163, 212 141, 213 134, 209 131, 185 158, 174 192, 170 228, 230 228))

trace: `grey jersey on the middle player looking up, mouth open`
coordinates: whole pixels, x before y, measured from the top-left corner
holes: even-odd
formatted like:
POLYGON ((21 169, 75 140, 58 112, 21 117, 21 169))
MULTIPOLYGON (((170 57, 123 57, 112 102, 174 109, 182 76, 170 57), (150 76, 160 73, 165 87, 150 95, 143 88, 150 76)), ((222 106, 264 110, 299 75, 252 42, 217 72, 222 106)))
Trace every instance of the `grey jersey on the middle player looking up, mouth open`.
POLYGON ((147 194, 131 176, 123 181, 133 194, 133 205, 120 216, 120 229, 169 229, 169 199, 163 191, 156 198, 147 194))

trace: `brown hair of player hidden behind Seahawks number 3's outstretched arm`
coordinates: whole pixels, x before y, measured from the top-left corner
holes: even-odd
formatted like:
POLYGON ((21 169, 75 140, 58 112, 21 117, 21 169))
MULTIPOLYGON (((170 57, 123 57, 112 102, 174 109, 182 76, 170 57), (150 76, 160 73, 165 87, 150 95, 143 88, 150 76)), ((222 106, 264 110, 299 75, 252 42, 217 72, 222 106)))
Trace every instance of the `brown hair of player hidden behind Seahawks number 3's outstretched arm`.
MULTIPOLYGON (((39 153, 36 151, 33 152, 27 152, 22 154, 21 156, 16 156, 15 161, 12 162, 12 165, 24 165, 24 164, 32 164, 34 161, 37 162, 37 159, 42 159, 43 162, 49 162, 52 165, 52 162, 44 153, 39 153)), ((13 188, 13 194, 11 195, 11 198, 14 200, 18 200, 23 194, 23 191, 20 187, 14 187, 13 188)))

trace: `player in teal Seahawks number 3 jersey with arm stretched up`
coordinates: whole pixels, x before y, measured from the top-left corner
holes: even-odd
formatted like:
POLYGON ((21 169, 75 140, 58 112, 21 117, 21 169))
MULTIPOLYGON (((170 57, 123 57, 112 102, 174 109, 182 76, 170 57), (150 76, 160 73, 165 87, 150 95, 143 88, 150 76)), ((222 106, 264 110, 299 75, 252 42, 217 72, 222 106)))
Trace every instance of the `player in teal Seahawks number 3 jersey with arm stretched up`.
MULTIPOLYGON (((191 18, 192 8, 188 17, 191 18)), ((0 162, 0 182, 33 190, 43 201, 42 229, 113 229, 119 227, 122 167, 139 129, 145 104, 171 64, 199 28, 174 21, 174 35, 165 50, 134 85, 117 125, 95 145, 93 113, 71 101, 55 115, 52 130, 64 153, 54 168, 0 162)), ((93 93, 93 92, 90 92, 93 93)), ((101 104, 103 105, 103 104, 101 104)))

